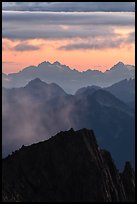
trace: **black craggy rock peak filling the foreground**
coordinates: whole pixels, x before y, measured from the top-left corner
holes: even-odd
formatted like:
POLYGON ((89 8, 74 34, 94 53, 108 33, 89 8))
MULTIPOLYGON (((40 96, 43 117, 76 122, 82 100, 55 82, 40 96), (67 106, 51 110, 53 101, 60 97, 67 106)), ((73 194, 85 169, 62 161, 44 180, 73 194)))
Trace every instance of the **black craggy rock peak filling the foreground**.
POLYGON ((3 202, 134 201, 130 165, 119 173, 93 131, 70 129, 3 159, 3 202))

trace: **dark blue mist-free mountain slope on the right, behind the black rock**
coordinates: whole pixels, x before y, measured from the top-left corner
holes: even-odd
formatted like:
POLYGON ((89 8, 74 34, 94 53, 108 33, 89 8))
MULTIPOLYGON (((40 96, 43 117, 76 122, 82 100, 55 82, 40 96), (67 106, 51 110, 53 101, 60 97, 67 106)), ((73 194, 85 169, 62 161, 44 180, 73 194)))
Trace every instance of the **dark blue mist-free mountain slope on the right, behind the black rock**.
POLYGON ((76 129, 94 129, 99 144, 111 152, 118 167, 126 158, 135 164, 135 117, 125 103, 104 90, 78 95, 71 119, 76 129))

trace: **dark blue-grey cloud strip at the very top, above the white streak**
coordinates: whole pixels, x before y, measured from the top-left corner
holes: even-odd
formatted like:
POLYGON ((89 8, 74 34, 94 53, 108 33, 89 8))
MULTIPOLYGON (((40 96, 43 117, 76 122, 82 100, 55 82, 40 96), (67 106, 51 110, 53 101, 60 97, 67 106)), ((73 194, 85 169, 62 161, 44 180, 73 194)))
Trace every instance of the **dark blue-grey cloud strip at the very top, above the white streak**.
POLYGON ((3 2, 3 10, 16 11, 135 11, 134 2, 3 2))

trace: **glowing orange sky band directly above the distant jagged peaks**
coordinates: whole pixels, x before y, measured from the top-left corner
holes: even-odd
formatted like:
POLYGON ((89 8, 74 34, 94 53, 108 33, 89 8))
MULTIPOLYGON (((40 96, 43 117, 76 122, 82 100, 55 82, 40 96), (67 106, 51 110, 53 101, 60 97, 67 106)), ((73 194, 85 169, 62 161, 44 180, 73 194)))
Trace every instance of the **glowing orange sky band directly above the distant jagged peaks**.
MULTIPOLYGON (((5 40, 5 43, 10 47, 14 47, 18 42, 5 40)), ((66 64, 70 68, 75 68, 79 71, 87 69, 105 71, 118 61, 122 61, 125 64, 135 64, 134 45, 126 45, 122 48, 113 49, 65 51, 56 49, 56 47, 65 43, 64 41, 30 40, 29 43, 40 45, 40 49, 24 52, 12 49, 3 50, 2 61, 4 62, 4 73, 18 72, 27 66, 38 65, 43 61, 49 61, 51 63, 59 61, 61 64, 66 64)))

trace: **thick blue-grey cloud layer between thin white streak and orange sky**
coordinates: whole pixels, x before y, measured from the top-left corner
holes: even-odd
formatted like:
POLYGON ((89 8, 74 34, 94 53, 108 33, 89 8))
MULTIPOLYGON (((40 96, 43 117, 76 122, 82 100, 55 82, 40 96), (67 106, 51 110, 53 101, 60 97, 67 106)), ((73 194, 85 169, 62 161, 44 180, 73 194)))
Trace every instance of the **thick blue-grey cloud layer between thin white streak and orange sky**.
POLYGON ((134 13, 3 12, 3 38, 65 39, 113 36, 114 26, 134 27, 134 13))

